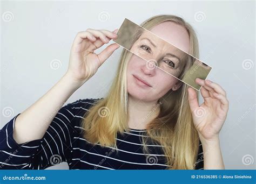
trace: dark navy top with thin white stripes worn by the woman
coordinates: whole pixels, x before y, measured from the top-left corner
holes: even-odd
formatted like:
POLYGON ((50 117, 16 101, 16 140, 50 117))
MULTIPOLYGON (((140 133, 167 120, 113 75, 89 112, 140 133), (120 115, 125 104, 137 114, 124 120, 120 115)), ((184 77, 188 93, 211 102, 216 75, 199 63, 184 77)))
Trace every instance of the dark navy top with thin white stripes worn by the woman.
MULTIPOLYGON (((99 98, 98 98, 99 99, 99 98)), ((0 169, 45 169, 62 161, 70 169, 166 169, 160 145, 147 145, 143 153, 145 130, 118 133, 117 148, 92 145, 82 136, 80 122, 97 99, 83 99, 62 107, 42 139, 17 144, 12 134, 15 119, 0 131, 0 169)), ((36 119, 35 119, 36 121, 36 119)), ((196 169, 204 168, 203 148, 199 142, 196 169)))

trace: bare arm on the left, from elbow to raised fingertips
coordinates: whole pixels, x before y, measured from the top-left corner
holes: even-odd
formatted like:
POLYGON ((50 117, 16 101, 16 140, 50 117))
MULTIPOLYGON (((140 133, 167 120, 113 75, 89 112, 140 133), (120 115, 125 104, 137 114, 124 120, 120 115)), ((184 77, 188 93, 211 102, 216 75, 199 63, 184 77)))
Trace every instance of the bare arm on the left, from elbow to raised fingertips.
POLYGON ((17 117, 14 128, 14 139, 17 143, 43 137, 63 103, 89 80, 119 47, 117 44, 111 44, 99 54, 94 53, 97 48, 109 43, 113 38, 117 38, 116 32, 106 30, 88 29, 77 34, 71 47, 68 72, 44 96, 17 117))

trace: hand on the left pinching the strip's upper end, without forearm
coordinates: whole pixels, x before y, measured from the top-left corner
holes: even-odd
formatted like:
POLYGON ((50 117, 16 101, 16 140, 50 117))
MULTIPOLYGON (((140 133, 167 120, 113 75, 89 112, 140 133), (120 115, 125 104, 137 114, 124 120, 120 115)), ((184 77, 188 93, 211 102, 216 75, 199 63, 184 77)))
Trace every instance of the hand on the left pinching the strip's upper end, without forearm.
POLYGON ((94 53, 97 48, 109 43, 111 39, 116 39, 117 30, 111 32, 87 29, 77 33, 71 47, 69 68, 66 74, 78 82, 79 86, 89 80, 103 62, 119 48, 119 45, 114 43, 107 46, 99 54, 94 53))

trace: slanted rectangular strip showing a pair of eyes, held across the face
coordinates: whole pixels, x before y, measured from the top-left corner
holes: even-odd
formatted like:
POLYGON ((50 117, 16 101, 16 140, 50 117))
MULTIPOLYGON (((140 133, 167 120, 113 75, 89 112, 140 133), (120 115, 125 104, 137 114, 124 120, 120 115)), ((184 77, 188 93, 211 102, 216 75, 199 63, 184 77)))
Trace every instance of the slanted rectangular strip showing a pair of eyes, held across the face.
POLYGON ((152 31, 125 18, 117 32, 118 38, 113 41, 149 62, 147 66, 156 67, 194 89, 200 90, 201 86, 196 83, 196 78, 205 80, 212 68, 188 54, 189 48, 180 49, 180 46, 178 48, 170 44, 152 31))

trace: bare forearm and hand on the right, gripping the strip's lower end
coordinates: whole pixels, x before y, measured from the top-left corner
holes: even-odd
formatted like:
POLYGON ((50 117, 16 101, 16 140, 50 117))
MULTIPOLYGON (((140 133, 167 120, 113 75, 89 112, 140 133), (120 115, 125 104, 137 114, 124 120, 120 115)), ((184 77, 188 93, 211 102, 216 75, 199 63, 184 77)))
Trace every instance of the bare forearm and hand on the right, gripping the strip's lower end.
POLYGON ((226 91, 219 84, 209 80, 197 79, 202 86, 204 103, 198 104, 197 94, 188 88, 188 101, 193 123, 203 146, 204 169, 225 169, 220 150, 219 132, 225 122, 228 111, 226 91))

